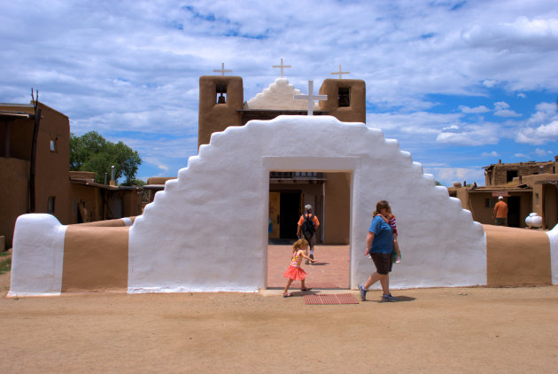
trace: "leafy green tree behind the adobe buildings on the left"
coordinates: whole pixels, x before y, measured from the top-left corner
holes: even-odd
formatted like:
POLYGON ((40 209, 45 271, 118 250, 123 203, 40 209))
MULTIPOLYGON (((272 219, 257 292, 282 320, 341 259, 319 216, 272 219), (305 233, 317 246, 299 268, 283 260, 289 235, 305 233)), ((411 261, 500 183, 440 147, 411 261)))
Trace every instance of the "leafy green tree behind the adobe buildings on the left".
POLYGON ((111 173, 114 165, 115 178, 124 176, 126 182, 123 184, 131 185, 136 181, 137 167, 141 164, 137 151, 122 142, 108 142, 97 131, 82 136, 70 134, 70 170, 93 171, 97 183, 104 183, 105 173, 111 173))

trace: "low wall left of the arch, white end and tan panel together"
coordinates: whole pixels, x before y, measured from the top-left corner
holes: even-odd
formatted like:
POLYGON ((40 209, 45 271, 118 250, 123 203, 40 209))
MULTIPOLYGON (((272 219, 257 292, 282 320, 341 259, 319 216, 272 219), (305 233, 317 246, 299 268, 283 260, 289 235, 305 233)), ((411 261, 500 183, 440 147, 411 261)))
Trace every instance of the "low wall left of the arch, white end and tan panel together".
POLYGON ((126 292, 131 222, 66 226, 50 214, 19 216, 8 296, 126 292))

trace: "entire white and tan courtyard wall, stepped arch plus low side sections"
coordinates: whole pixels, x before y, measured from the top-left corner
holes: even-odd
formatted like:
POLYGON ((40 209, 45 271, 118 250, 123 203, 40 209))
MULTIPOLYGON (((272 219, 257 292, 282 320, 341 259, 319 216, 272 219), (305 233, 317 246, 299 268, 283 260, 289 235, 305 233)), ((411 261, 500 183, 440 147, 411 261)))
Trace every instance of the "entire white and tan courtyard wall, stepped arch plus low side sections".
MULTIPOLYGON (((68 229, 49 214, 20 216, 10 294, 59 294, 89 287, 120 290, 126 274, 129 293, 265 288, 270 170, 350 173, 351 287, 370 274, 362 252, 370 214, 380 199, 389 200, 397 214, 405 257, 391 279, 393 288, 548 282, 547 268, 534 269, 531 275, 537 278, 532 280, 530 274, 517 276, 515 269, 531 269, 533 259, 522 256, 519 247, 498 253, 516 245, 516 236, 485 233, 459 199, 436 186, 433 175, 423 174, 422 165, 402 152, 397 141, 385 139, 380 129, 329 116, 280 116, 213 134, 210 144, 190 157, 188 168, 179 171, 178 179, 165 183, 128 235, 123 226, 68 229), (310 149, 308 138, 316 144, 310 149), (408 185, 414 186, 413 194, 408 185), (215 212, 211 225, 199 219, 208 212, 215 212), (203 255, 206 248, 212 248, 211 261, 203 255), (127 268, 121 265, 126 255, 127 268), (494 268, 492 262, 507 262, 508 256, 518 261, 515 266, 494 268), (99 266, 88 273, 91 261, 99 266), (111 261, 117 264, 110 272, 119 274, 107 282, 95 279, 111 261)), ((556 277, 558 229, 546 235, 531 241, 540 250, 540 263, 550 261, 551 277, 556 277)))

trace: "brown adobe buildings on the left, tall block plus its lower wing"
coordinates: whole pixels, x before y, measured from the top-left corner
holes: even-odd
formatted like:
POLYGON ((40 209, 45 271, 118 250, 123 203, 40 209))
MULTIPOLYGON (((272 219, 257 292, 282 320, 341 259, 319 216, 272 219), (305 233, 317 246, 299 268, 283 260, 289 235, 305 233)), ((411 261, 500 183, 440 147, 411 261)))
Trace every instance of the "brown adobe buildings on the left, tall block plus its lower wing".
MULTIPOLYGON (((21 214, 79 223, 141 214, 141 190, 94 183, 69 171, 70 121, 39 101, 0 104, 0 237, 12 246, 21 214)), ((0 251, 4 248, 0 248, 0 251)))

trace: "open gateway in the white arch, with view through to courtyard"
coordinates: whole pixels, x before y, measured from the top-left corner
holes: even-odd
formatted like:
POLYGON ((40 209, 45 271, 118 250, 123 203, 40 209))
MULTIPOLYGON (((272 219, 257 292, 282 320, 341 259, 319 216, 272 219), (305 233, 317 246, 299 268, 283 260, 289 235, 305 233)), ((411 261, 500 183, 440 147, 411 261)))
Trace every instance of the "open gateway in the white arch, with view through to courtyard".
MULTIPOLYGON (((320 226, 314 256, 319 261, 302 267, 306 284, 314 289, 347 289, 350 283, 352 172, 269 173, 267 288, 283 288, 283 272, 291 263, 298 220, 311 205, 320 226)), ((299 283, 293 282, 296 290, 299 283)))

